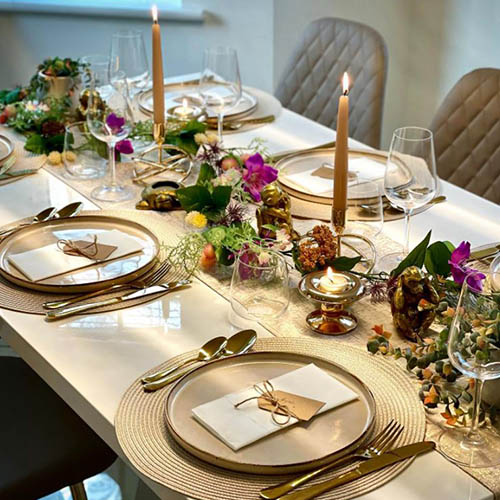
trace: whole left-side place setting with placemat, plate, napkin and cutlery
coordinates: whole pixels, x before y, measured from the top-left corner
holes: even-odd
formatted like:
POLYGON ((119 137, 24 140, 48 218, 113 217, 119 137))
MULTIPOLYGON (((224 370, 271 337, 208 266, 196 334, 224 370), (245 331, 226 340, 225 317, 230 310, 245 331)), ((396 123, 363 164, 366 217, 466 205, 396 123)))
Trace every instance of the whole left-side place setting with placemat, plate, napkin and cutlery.
POLYGON ((0 233, 2 307, 56 321, 131 307, 191 283, 165 260, 154 222, 81 210, 80 202, 50 207, 0 233))

